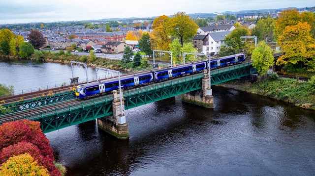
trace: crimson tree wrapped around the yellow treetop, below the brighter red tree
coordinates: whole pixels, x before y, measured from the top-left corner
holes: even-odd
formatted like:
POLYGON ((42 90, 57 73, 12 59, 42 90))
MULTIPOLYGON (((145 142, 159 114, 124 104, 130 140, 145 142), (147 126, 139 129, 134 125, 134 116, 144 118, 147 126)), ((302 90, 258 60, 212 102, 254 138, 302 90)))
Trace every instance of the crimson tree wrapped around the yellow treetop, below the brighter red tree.
POLYGON ((39 149, 29 142, 19 142, 9 147, 3 148, 0 152, 0 163, 6 162, 10 157, 28 153, 40 166, 44 166, 51 176, 61 176, 50 158, 45 158, 39 149))

